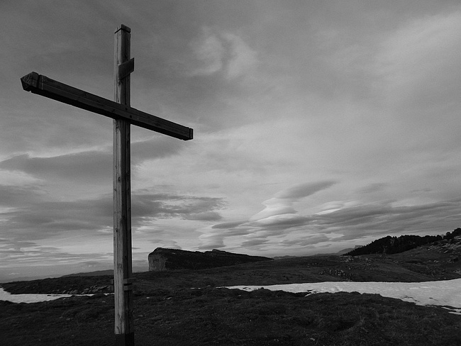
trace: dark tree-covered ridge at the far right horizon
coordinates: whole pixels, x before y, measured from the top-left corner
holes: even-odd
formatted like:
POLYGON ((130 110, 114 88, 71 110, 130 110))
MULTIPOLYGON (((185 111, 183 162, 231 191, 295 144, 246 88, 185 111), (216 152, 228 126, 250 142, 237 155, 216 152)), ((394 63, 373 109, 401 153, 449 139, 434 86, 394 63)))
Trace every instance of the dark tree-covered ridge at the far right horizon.
POLYGON ((344 256, 357 256, 357 255, 374 255, 384 254, 393 255, 400 252, 405 252, 414 249, 421 245, 437 244, 443 240, 453 240, 455 237, 461 236, 461 228, 453 230, 451 233, 447 232, 445 235, 401 235, 400 237, 387 237, 380 238, 370 242, 362 247, 346 252, 344 256))

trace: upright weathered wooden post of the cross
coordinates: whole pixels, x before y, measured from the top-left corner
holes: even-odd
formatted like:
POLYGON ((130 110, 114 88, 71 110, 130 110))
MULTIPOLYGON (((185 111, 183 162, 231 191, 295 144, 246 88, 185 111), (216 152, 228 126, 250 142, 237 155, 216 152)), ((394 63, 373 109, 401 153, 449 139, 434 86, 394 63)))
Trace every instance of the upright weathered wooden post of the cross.
MULTIPOLYGON (((130 71, 123 73, 120 68, 128 61, 130 28, 122 25, 115 33, 114 101, 130 106, 130 71)), ((130 123, 116 119, 113 121, 113 293, 118 346, 135 344, 131 265, 130 123)))

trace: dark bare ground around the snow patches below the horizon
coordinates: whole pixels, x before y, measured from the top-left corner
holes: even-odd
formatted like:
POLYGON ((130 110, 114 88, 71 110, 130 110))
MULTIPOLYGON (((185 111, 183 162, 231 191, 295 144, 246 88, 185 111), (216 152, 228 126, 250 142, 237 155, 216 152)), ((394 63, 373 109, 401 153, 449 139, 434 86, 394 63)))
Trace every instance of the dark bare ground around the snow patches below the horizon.
MULTIPOLYGON (((379 294, 220 288, 325 281, 461 278, 452 253, 295 257, 204 270, 135 274, 136 345, 461 345, 461 316, 379 294)), ((1 345, 113 345, 111 277, 1 284, 16 294, 72 294, 42 303, 0 301, 1 345)), ((458 280, 457 280, 458 281, 458 280)), ((242 287, 243 288, 243 287, 242 287)), ((460 288, 461 289, 461 288, 460 288)), ((357 289, 358 290, 358 289, 357 289)))

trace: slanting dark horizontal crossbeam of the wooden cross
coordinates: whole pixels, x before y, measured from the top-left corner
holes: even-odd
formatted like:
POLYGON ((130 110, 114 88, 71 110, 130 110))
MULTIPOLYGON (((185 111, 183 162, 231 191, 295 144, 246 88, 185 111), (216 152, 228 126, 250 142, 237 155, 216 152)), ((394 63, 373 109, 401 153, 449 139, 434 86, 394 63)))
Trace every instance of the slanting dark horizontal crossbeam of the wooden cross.
POLYGON ((33 94, 45 96, 49 99, 101 114, 102 116, 108 116, 113 119, 123 118, 133 125, 181 140, 191 140, 194 138, 194 130, 191 128, 90 94, 67 84, 57 82, 37 72, 26 74, 26 76, 21 78, 21 83, 24 90, 31 91, 33 94))

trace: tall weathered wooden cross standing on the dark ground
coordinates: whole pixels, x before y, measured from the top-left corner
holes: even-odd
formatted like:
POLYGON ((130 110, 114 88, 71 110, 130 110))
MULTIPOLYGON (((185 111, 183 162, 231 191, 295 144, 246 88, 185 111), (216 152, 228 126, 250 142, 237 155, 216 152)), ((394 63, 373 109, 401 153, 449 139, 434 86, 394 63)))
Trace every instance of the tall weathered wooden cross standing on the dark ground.
POLYGON ((186 126, 138 111, 130 106, 130 28, 115 32, 114 101, 57 82, 36 72, 21 78, 23 89, 113 118, 113 293, 116 345, 134 345, 133 278, 131 264, 130 124, 181 140, 191 140, 186 126))

